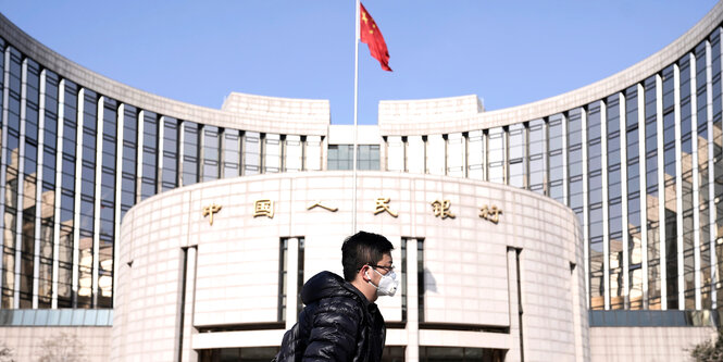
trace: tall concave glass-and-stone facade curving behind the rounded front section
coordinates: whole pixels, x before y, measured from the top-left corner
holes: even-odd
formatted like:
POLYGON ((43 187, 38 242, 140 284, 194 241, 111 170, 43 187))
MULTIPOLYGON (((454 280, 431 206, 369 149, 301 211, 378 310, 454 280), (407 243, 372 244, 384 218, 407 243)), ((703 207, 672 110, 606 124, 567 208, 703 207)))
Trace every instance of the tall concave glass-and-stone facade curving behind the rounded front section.
MULTIPOLYGON (((382 172, 383 185, 438 179, 459 194, 502 184, 559 201, 577 217, 583 258, 570 262, 584 271, 590 325, 690 335, 685 326, 716 324, 723 303, 722 22, 719 3, 631 68, 529 104, 485 112, 476 96, 383 101, 378 126, 360 127, 358 167, 382 172), (610 322, 619 316, 627 322, 610 322)), ((64 323, 61 312, 105 315, 121 303, 121 221, 146 199, 221 178, 344 178, 321 172, 351 168, 352 129, 329 124, 328 101, 232 93, 221 110, 182 103, 88 71, 1 15, 0 51, 5 326, 109 327, 64 323)), ((412 232, 391 235, 434 237, 412 232)), ((595 359, 604 338, 590 330, 595 359)))

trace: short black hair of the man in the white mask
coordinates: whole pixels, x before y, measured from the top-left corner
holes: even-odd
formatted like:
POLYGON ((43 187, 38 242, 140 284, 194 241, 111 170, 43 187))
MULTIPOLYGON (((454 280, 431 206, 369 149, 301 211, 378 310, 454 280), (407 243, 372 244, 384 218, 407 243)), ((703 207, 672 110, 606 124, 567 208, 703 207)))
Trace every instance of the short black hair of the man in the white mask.
POLYGON ((341 265, 344 265, 344 278, 352 282, 359 270, 366 264, 376 264, 384 254, 388 254, 395 247, 382 235, 359 232, 341 245, 341 265))

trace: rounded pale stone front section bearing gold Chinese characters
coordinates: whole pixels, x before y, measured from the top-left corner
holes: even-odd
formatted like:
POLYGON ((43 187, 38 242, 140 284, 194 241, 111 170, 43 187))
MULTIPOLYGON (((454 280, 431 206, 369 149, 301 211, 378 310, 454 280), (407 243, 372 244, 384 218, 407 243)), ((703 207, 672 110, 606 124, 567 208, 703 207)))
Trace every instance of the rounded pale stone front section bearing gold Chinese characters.
MULTIPOLYGON (((303 282, 341 275, 349 172, 204 183, 140 202, 121 229, 116 361, 271 359, 303 282), (264 354, 265 353, 265 354, 264 354), (271 353, 271 354, 270 354, 271 353)), ((395 246, 397 296, 377 303, 386 358, 585 360, 583 248, 563 204, 439 176, 359 175, 358 227, 395 246)))

